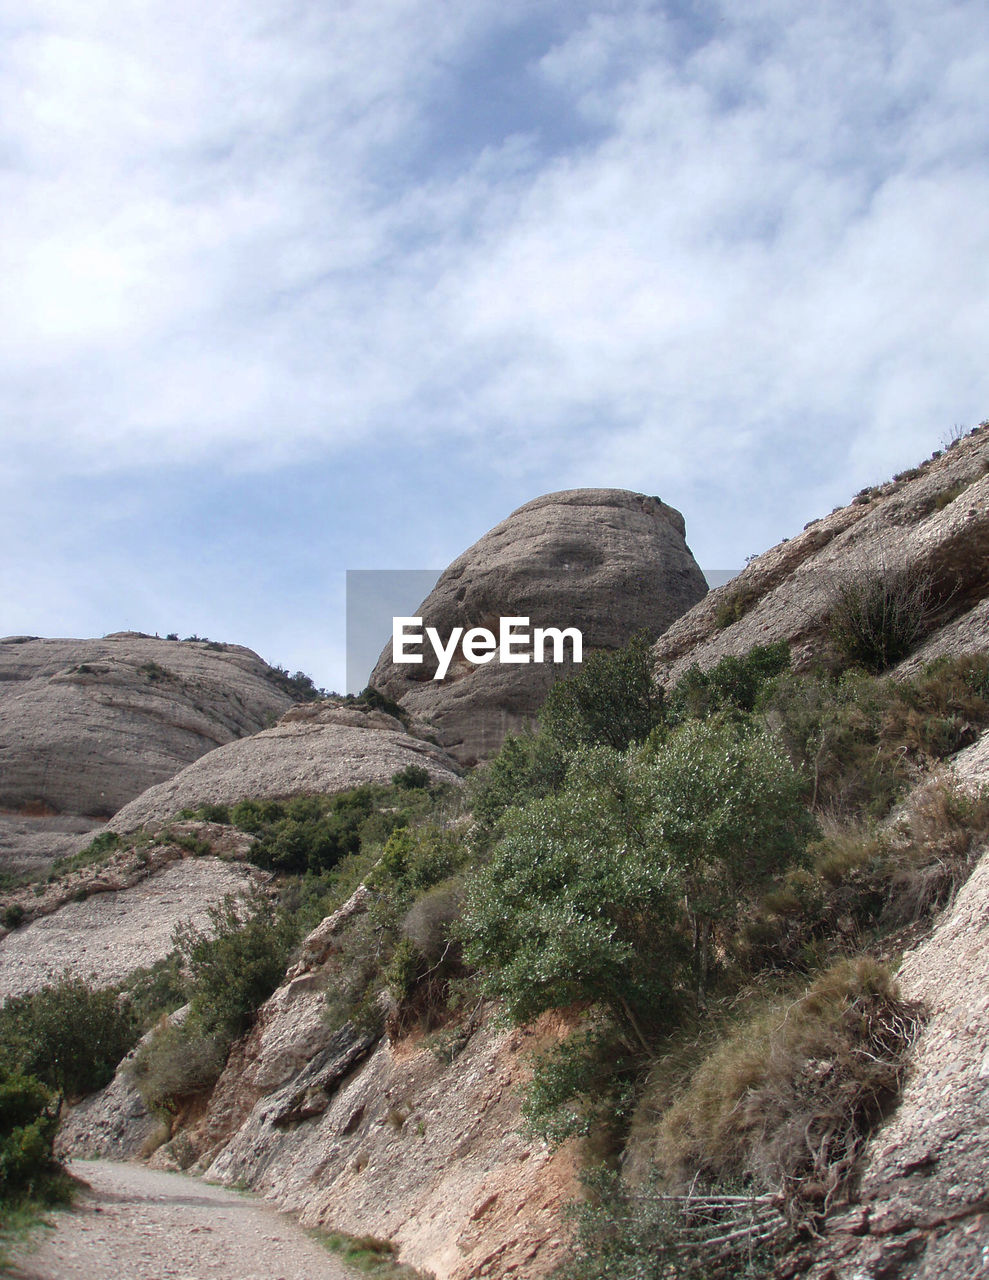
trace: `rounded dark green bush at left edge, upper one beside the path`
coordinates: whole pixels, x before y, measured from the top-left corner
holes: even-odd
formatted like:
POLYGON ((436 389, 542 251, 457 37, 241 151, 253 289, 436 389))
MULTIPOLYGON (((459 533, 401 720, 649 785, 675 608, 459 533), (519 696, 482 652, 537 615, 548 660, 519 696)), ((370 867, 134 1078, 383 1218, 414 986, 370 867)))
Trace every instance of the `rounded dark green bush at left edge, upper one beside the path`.
POLYGON ((63 978, 0 1009, 8 1065, 79 1098, 107 1084, 138 1037, 134 1012, 114 991, 63 978))

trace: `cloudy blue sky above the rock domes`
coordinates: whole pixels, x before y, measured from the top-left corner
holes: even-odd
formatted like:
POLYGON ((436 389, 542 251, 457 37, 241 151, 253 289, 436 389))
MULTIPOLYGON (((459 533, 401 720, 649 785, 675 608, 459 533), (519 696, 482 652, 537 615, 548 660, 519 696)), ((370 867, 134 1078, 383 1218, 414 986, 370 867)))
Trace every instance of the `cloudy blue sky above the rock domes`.
POLYGON ((6 0, 0 635, 340 689, 580 486, 741 567, 989 416, 988 96, 983 0, 6 0))

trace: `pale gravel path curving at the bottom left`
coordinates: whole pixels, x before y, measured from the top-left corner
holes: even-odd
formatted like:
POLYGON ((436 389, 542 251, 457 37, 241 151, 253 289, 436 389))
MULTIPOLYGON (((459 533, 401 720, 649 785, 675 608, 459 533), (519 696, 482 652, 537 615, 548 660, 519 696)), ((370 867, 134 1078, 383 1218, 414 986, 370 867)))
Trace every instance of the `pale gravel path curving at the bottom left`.
POLYGON ((90 1184, 54 1215, 12 1280, 353 1280, 292 1219, 252 1196, 143 1165, 74 1160, 90 1184))

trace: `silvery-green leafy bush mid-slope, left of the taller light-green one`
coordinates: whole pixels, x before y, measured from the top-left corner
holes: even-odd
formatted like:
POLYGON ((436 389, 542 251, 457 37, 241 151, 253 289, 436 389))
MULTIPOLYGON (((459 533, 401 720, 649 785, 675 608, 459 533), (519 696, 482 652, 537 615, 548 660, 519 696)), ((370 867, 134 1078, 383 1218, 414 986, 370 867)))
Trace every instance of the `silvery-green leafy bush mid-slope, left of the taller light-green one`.
POLYGON ((650 781, 608 748, 578 753, 558 795, 509 810, 468 879, 464 956, 514 1021, 590 1001, 642 1044, 667 1023, 682 886, 655 838, 650 781))

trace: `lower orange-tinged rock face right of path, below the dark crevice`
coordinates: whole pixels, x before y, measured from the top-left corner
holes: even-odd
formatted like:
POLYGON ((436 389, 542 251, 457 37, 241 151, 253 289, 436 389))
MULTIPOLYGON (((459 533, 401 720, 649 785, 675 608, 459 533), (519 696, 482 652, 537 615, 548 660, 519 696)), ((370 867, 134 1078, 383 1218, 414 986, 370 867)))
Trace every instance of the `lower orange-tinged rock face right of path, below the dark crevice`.
POLYGON ((436 1280, 546 1275, 577 1187, 572 1153, 518 1134, 522 1051, 532 1044, 481 1025, 447 1064, 385 1039, 333 1079, 336 1057, 317 1056, 320 1078, 303 1071, 260 1098, 206 1176, 247 1183, 303 1225, 392 1239, 402 1261, 436 1280))

